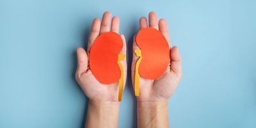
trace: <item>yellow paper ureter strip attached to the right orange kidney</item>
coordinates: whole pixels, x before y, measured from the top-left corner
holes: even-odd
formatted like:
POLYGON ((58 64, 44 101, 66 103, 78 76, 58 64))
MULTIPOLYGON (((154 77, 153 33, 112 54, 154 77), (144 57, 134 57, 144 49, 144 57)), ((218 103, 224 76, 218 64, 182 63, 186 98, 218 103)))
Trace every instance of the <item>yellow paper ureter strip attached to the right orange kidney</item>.
POLYGON ((135 92, 135 96, 138 97, 140 95, 139 66, 140 66, 140 62, 141 62, 142 56, 141 56, 141 50, 140 49, 135 49, 134 52, 135 52, 136 56, 140 57, 138 59, 138 61, 136 62, 136 66, 135 66, 135 81, 134 81, 134 92, 135 92))

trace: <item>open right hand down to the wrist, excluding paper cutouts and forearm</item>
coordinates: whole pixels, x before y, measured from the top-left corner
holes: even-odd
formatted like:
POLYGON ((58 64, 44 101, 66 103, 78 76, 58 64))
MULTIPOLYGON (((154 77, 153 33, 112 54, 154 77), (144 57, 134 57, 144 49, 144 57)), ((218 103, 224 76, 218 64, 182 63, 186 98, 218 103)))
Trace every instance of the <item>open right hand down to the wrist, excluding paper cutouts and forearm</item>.
MULTIPOLYGON (((170 36, 168 33, 167 22, 164 19, 157 20, 157 15, 154 12, 148 14, 149 27, 155 28, 164 35, 166 40, 170 45, 170 36)), ((140 29, 146 28, 147 18, 141 17, 140 19, 140 29)), ((134 36, 135 38, 135 36, 134 36)), ((133 42, 133 52, 134 49, 140 49, 136 44, 135 40, 133 42)), ((181 68, 181 57, 177 47, 172 47, 170 49, 170 63, 166 68, 163 76, 158 79, 151 80, 140 77, 140 96, 137 97, 138 102, 167 102, 168 99, 173 95, 175 89, 177 88, 180 78, 182 76, 181 68)), ((132 84, 134 85, 134 73, 135 65, 138 60, 138 56, 133 53, 132 59, 132 84)), ((152 58, 154 59, 154 58, 152 58)))

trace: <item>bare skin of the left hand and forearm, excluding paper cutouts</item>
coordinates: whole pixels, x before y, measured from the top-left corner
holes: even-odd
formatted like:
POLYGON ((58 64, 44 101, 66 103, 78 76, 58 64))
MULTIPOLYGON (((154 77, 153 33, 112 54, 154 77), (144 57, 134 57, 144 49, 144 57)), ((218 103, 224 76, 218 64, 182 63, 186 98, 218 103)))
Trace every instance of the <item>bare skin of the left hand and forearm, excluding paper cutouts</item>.
MULTIPOLYGON (((87 52, 81 48, 77 48, 77 83, 83 89, 83 92, 89 99, 88 114, 85 127, 117 127, 118 125, 118 82, 113 84, 101 84, 93 76, 89 63, 89 53, 94 40, 102 33, 113 31, 119 33, 119 18, 111 18, 110 12, 105 12, 102 21, 95 18, 92 22, 92 28, 88 40, 87 52), (100 123, 99 123, 100 122, 100 123)), ((120 35, 123 40, 123 48, 120 54, 126 54, 126 43, 124 35, 120 35)), ((127 76, 126 59, 120 61, 124 67, 124 83, 127 76)))

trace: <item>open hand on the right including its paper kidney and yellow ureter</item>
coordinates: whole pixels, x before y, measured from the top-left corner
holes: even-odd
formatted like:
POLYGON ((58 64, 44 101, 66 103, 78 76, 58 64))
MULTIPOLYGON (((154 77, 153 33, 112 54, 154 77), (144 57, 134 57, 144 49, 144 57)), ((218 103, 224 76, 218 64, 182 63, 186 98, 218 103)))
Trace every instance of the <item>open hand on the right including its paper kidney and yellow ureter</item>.
POLYGON ((170 48, 168 23, 155 12, 140 18, 140 31, 134 36, 132 84, 140 102, 166 102, 182 76, 181 57, 170 48), (147 63, 146 63, 147 62, 147 63))

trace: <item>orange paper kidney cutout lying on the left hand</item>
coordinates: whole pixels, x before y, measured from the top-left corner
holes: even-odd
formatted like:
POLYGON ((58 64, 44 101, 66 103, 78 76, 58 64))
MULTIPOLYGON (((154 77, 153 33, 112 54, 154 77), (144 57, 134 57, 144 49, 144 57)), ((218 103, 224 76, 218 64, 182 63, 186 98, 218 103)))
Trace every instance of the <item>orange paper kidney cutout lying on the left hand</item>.
POLYGON ((90 68, 103 84, 116 83, 121 77, 118 53, 123 47, 122 38, 114 32, 102 33, 90 50, 90 68))

